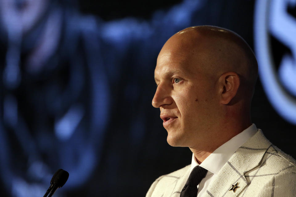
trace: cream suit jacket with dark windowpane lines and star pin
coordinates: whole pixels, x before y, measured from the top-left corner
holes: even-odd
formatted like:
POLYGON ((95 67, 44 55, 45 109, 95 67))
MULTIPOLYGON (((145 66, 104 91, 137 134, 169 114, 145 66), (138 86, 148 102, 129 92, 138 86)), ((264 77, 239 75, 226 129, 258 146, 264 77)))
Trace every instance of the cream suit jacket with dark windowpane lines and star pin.
MULTIPOLYGON (((179 197, 190 165, 163 175, 151 185, 146 197, 179 197)), ((296 196, 296 161, 271 144, 258 129, 219 171, 202 197, 296 196), (239 188, 229 191, 232 184, 239 188)))

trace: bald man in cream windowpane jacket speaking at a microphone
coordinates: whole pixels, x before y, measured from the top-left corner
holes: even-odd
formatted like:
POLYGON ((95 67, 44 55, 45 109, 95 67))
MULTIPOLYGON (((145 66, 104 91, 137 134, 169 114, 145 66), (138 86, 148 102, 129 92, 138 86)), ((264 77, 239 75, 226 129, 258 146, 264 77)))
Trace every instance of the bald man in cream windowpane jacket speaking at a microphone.
POLYGON ((294 196, 295 160, 251 123, 257 61, 232 31, 195 26, 162 47, 152 100, 171 146, 191 165, 156 179, 146 197, 294 196))

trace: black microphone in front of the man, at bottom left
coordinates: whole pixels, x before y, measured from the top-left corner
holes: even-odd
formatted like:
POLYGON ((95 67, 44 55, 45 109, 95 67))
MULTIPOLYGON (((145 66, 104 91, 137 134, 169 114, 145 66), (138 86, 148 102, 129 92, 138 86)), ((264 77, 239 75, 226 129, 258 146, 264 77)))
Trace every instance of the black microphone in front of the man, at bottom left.
POLYGON ((52 176, 50 180, 50 186, 43 197, 47 197, 48 194, 48 197, 51 197, 58 188, 63 187, 63 185, 68 180, 68 177, 69 173, 67 171, 64 171, 63 169, 57 170, 52 176))

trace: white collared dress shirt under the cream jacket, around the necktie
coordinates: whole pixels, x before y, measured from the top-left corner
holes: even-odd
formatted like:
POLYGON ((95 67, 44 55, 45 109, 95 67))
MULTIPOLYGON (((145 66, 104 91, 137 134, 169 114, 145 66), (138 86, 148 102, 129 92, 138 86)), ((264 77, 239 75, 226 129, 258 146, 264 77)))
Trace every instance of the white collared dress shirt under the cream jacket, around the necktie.
MULTIPOLYGON (((220 169, 224 164, 230 159, 234 152, 241 147, 249 138, 251 138, 257 132, 257 127, 252 124, 250 127, 242 131, 241 133, 234 136, 232 139, 228 140, 226 143, 218 147, 214 152, 212 152, 201 164, 200 166, 207 169, 208 173, 205 178, 199 183, 197 197, 202 196, 206 193, 207 188, 211 181, 218 174, 220 169)), ((191 161, 191 171, 195 166, 198 166, 194 154, 192 154, 191 161)), ((191 172, 190 171, 190 172, 191 172)))

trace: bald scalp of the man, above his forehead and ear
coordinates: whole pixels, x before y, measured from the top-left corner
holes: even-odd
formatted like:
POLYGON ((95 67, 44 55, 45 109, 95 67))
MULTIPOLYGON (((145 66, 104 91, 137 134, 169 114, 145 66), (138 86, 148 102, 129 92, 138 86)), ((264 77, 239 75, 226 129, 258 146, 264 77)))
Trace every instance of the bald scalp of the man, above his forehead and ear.
POLYGON ((240 76, 241 89, 253 95, 258 66, 252 49, 238 34, 216 26, 188 27, 173 35, 162 52, 175 47, 194 64, 192 69, 215 79, 225 72, 240 76))

